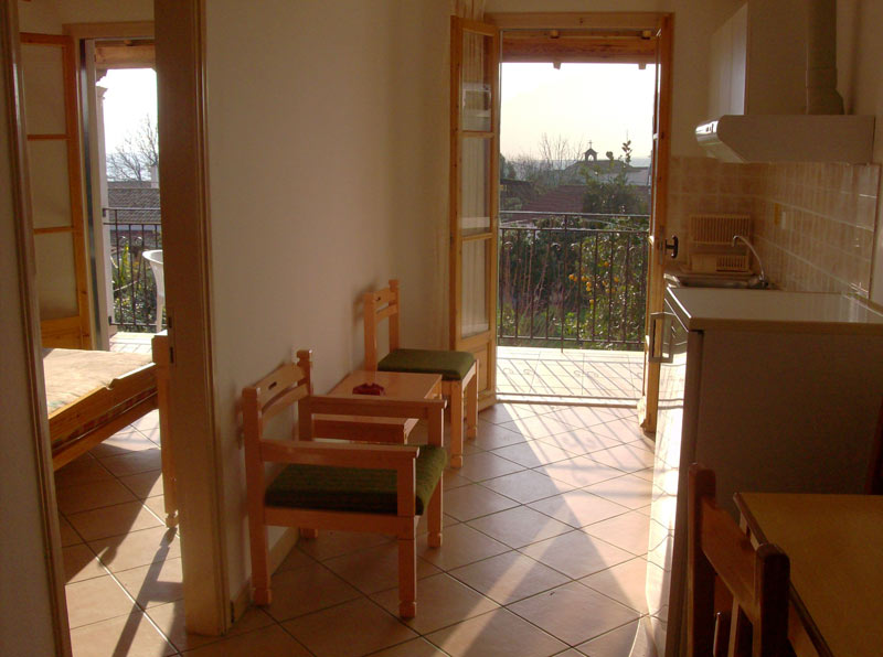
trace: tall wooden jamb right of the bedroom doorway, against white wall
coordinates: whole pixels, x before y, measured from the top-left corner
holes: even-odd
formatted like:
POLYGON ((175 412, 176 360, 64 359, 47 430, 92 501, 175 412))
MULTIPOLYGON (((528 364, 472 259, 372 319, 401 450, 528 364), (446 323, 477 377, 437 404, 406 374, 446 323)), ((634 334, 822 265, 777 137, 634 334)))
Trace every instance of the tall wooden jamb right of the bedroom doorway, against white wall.
POLYGON ((232 624, 215 427, 204 0, 156 0, 158 129, 170 397, 187 628, 232 624))

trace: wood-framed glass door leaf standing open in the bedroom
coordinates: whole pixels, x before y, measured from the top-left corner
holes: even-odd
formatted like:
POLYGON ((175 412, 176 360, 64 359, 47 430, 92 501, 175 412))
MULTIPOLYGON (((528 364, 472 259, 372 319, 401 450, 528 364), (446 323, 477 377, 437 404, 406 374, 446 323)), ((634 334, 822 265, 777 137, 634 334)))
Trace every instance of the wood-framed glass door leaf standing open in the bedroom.
POLYGON ((43 346, 91 349, 73 40, 22 33, 21 55, 43 346))

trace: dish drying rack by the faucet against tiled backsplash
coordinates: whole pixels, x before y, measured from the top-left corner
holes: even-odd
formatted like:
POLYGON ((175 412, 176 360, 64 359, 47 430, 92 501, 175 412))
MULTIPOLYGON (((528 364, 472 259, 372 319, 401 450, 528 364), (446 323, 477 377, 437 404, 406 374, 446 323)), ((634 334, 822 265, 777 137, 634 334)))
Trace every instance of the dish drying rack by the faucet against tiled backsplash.
POLYGON ((749 271, 748 247, 733 246, 733 236, 749 237, 749 215, 690 215, 688 262, 690 271, 701 273, 746 273, 749 271))

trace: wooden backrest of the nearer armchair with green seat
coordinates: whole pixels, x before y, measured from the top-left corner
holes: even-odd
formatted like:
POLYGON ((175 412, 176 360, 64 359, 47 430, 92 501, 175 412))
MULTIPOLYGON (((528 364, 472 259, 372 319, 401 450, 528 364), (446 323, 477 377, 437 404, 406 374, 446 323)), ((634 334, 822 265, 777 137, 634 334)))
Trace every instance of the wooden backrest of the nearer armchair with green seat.
POLYGON ((309 410, 305 408, 312 395, 310 379, 311 351, 297 353, 297 365, 286 363, 274 369, 263 379, 243 388, 242 417, 245 442, 245 474, 249 485, 263 488, 264 460, 260 456, 260 441, 264 439, 264 427, 267 420, 298 403, 298 434, 301 440, 312 438, 312 421, 309 410))

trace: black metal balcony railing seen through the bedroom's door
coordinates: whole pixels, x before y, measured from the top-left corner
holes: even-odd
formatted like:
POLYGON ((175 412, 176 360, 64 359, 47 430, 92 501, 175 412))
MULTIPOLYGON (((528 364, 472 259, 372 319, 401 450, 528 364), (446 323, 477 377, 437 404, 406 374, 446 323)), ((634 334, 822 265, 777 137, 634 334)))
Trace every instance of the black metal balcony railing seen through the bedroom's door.
POLYGON ((143 251, 162 248, 158 207, 105 207, 106 256, 110 260, 114 308, 110 323, 123 331, 157 327, 157 287, 143 251))

